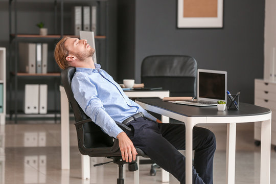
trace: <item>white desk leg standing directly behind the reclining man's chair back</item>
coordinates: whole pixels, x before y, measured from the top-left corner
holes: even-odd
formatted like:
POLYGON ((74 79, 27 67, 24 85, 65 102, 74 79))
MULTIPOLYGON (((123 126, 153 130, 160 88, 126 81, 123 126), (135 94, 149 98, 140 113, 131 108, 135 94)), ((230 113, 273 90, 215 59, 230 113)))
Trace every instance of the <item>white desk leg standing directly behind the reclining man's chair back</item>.
POLYGON ((69 103, 60 91, 60 124, 61 124, 61 169, 70 169, 70 135, 69 135, 69 103))

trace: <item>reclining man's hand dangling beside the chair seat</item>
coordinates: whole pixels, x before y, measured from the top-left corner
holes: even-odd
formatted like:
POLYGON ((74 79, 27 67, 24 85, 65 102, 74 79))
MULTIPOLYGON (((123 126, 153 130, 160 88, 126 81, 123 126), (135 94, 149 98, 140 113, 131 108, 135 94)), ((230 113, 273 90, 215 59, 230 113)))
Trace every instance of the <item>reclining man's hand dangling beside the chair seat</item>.
POLYGON ((121 132, 117 135, 117 139, 119 140, 119 147, 123 160, 126 160, 126 162, 132 162, 132 160, 135 160, 136 154, 138 153, 136 152, 136 149, 127 134, 125 132, 121 132))

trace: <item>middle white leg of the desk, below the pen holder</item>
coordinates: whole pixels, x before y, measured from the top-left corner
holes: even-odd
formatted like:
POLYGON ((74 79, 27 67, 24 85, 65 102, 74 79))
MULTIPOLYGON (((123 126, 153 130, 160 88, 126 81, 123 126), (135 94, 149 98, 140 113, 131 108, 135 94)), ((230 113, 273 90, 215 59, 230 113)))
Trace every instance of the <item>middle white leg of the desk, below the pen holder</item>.
POLYGON ((227 124, 226 184, 235 183, 236 123, 227 124))

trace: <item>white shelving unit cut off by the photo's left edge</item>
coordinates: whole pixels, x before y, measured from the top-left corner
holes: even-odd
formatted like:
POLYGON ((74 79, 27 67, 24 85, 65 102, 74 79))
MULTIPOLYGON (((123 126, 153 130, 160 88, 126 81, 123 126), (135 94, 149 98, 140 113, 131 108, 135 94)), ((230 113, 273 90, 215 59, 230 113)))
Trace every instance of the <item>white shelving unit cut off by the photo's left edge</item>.
POLYGON ((6 48, 0 48, 0 125, 6 120, 6 48))

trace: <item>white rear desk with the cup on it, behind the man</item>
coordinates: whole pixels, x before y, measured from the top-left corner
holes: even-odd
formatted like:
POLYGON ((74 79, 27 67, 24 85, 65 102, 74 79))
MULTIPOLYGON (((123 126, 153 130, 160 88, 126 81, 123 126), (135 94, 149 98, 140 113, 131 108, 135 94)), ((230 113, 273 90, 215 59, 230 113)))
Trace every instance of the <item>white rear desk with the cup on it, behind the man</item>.
MULTIPOLYGON (((60 90, 60 114, 61 114, 61 169, 70 169, 70 134, 69 134, 69 103, 63 86, 60 90)), ((163 99, 169 97, 168 90, 148 91, 125 91, 129 98, 158 97, 163 99)), ((163 123, 169 123, 169 118, 162 116, 163 123)), ((88 155, 81 156, 82 179, 90 178, 90 158, 88 155)), ((169 173, 162 169, 162 182, 169 182, 169 173)))

